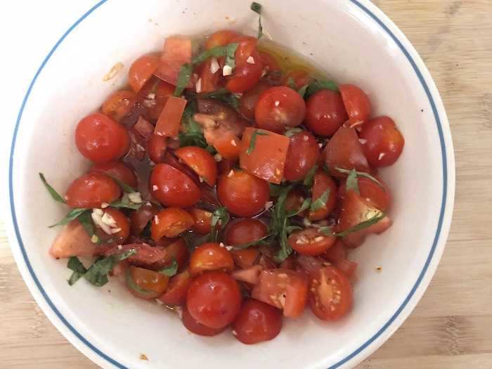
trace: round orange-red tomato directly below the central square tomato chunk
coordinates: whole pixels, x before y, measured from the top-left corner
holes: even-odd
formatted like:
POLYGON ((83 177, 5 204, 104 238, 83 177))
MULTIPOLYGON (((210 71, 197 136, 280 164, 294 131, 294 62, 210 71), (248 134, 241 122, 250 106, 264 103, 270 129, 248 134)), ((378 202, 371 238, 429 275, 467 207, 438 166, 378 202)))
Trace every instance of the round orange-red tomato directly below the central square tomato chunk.
POLYGON ((219 177, 217 194, 222 205, 237 216, 253 216, 265 208, 270 198, 270 187, 242 170, 231 170, 219 177))

